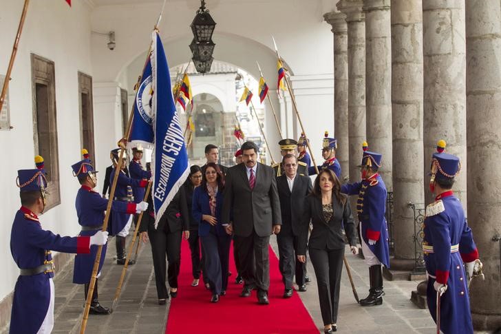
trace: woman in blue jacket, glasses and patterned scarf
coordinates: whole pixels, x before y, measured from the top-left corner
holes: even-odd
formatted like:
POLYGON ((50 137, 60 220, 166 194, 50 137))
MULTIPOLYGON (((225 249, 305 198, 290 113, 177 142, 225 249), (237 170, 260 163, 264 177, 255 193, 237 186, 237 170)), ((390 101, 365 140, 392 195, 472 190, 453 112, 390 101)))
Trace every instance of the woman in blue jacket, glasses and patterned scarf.
POLYGON ((208 163, 202 185, 193 191, 192 213, 199 222, 198 235, 204 250, 204 280, 209 283, 211 302, 219 302, 228 286, 228 261, 231 236, 221 223, 224 174, 218 165, 208 163))

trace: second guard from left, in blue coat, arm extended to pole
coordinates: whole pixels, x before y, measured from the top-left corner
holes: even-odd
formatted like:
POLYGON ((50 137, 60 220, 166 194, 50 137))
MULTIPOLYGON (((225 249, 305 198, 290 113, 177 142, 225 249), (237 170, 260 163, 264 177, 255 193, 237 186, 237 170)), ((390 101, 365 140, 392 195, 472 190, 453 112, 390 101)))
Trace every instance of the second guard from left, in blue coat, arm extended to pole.
MULTIPOLYGON (((78 224, 82 226, 80 236, 94 236, 100 233, 103 229, 103 221, 105 218, 105 210, 108 205, 108 200, 102 198, 93 189, 98 184, 94 166, 89 159, 83 159, 78 163, 72 165, 73 175, 78 178, 81 188, 78 189, 76 194, 75 207, 76 215, 78 216, 78 224)), ((125 203, 114 201, 111 209, 122 213, 136 213, 143 211, 145 205, 138 205, 134 203, 125 203)), ((146 205, 147 207, 147 205, 146 205)), ((106 232, 108 233, 108 232, 106 232)), ((107 244, 103 246, 101 251, 101 258, 98 269, 98 276, 100 275, 101 268, 106 256, 107 244)), ((94 268, 94 261, 96 260, 97 246, 90 248, 90 254, 76 255, 73 282, 75 284, 85 284, 84 293, 87 300, 87 291, 89 290, 89 282, 94 268)), ((92 293, 92 302, 89 309, 90 314, 109 314, 109 309, 99 304, 98 300, 98 279, 96 278, 96 285, 94 286, 94 293, 92 293)))

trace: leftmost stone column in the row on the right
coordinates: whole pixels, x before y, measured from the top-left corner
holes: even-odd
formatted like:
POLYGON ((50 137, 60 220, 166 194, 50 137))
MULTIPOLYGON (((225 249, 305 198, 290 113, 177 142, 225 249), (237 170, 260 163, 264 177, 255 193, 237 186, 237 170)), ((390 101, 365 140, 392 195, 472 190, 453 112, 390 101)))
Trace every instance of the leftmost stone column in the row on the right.
POLYGON ((341 164, 341 182, 348 176, 350 147, 348 145, 348 28, 346 15, 329 12, 323 18, 334 33, 334 136, 338 148, 336 157, 341 164))

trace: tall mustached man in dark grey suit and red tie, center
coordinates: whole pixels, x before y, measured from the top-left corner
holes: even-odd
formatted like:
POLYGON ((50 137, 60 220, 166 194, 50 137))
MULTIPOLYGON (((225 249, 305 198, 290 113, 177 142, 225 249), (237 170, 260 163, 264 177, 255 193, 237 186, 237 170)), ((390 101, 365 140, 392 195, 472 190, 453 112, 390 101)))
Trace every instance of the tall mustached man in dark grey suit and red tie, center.
POLYGON ((277 180, 271 167, 257 163, 255 143, 244 143, 242 156, 244 163, 229 168, 226 174, 222 225, 226 233, 235 234, 233 240, 245 283, 241 296, 250 296, 257 287, 259 304, 269 304, 268 244, 270 235, 278 234, 281 227, 277 180))

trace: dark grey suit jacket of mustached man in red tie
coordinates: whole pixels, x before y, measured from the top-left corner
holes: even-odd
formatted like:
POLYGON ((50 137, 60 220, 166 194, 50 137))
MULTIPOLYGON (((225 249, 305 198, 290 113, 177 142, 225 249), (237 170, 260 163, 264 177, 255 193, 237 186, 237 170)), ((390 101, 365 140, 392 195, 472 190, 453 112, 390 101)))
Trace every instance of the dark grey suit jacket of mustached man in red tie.
POLYGON ((231 222, 232 210, 236 236, 270 236, 273 225, 281 225, 277 179, 273 169, 257 163, 254 189, 248 184, 244 163, 230 167, 226 174, 222 223, 231 222))

